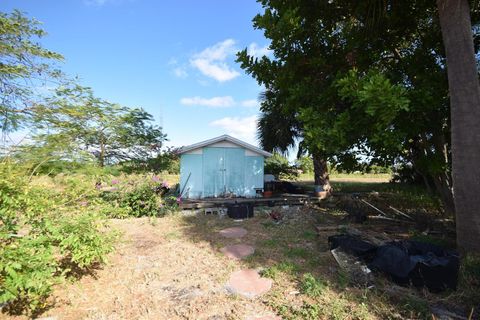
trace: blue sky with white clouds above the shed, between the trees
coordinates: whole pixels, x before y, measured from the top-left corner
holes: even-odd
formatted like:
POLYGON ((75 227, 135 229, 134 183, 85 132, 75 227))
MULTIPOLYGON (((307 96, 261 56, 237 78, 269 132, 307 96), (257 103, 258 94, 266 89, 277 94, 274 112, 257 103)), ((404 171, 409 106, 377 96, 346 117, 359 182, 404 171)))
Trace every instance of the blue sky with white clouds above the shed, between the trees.
POLYGON ((143 107, 181 146, 224 133, 257 144, 261 88, 235 52, 270 54, 254 0, 2 0, 43 22, 41 43, 97 96, 143 107))

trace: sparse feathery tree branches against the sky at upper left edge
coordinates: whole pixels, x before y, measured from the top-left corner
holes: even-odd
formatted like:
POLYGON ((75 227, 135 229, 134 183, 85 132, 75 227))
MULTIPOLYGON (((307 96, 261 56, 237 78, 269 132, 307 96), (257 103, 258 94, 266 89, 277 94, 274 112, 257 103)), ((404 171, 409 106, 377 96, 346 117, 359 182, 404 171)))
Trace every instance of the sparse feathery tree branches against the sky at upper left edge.
POLYGON ((41 100, 38 89, 62 78, 55 61, 58 53, 43 48, 37 40, 46 32, 40 23, 19 11, 0 12, 0 130, 14 131, 41 100))

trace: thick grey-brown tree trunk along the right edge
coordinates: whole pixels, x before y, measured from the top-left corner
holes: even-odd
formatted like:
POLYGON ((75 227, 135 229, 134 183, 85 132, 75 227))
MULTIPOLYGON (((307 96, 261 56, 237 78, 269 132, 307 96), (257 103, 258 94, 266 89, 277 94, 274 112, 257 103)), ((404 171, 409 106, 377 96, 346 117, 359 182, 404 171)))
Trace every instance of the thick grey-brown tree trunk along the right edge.
POLYGON ((468 0, 437 0, 447 57, 457 244, 480 252, 480 86, 468 0))

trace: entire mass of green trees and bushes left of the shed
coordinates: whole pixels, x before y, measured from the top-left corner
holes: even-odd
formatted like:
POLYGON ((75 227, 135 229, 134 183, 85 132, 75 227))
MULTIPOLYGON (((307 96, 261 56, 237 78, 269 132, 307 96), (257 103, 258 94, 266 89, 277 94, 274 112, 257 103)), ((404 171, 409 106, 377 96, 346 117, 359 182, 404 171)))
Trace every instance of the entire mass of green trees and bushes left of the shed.
POLYGON ((105 263, 107 218, 178 208, 175 185, 151 173, 178 172, 153 117, 68 79, 55 65, 63 57, 37 42, 45 34, 19 11, 0 13, 0 130, 30 129, 1 150, 0 306, 32 316, 56 284, 105 263))

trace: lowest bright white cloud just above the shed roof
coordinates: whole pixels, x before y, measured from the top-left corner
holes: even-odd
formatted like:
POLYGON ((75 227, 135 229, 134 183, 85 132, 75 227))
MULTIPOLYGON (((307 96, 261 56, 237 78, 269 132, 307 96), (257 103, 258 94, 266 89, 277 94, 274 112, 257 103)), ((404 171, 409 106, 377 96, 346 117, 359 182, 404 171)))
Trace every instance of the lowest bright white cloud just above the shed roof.
POLYGON ((210 126, 222 128, 235 138, 256 144, 257 120, 258 116, 256 115, 245 118, 225 117, 210 122, 210 126))

